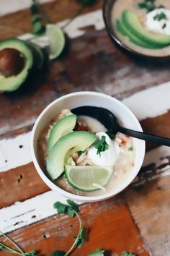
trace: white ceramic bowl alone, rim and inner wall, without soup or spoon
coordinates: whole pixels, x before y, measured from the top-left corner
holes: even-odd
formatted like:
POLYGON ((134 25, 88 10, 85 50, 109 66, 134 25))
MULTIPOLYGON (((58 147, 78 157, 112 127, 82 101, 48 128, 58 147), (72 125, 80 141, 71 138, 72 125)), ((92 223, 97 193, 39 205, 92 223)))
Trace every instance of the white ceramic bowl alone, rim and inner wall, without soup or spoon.
POLYGON ((32 129, 31 140, 32 159, 38 174, 45 182, 45 184, 47 184, 50 189, 55 190, 64 197, 81 202, 96 202, 100 200, 105 200, 109 197, 117 195, 119 192, 125 189, 125 187, 127 187, 130 182, 133 181, 135 176, 137 176, 145 155, 145 142, 143 140, 134 139, 136 149, 135 166, 131 171, 130 175, 128 176, 128 179, 123 181, 119 187, 113 187, 112 192, 95 197, 73 195, 69 192, 66 192, 65 190, 57 187, 53 182, 51 182, 50 179, 45 176, 44 172, 40 168, 40 164, 38 163, 37 158, 37 140, 40 136, 40 132, 42 132, 42 129, 44 129, 49 124, 50 120, 53 119, 54 116, 57 116, 63 110, 63 108, 72 109, 78 106, 99 106, 107 108, 109 109, 109 111, 112 111, 115 116, 117 116, 117 119, 119 119, 120 123, 123 126, 143 132, 138 119, 136 119, 134 114, 125 105, 123 105, 120 101, 117 101, 117 99, 112 98, 108 95, 104 95, 102 93, 71 93, 68 95, 64 95, 63 97, 58 98, 57 100, 50 103, 50 105, 48 105, 44 109, 44 111, 42 111, 40 116, 37 118, 37 121, 35 121, 35 125, 32 129))

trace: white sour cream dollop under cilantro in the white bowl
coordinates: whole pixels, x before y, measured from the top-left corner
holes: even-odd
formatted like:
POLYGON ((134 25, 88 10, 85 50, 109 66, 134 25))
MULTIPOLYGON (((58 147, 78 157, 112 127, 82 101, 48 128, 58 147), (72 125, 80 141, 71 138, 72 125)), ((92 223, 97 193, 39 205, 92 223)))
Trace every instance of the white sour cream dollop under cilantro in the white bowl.
POLYGON ((101 140, 102 136, 104 136, 105 141, 109 145, 109 148, 105 151, 102 151, 100 155, 97 155, 97 148, 92 146, 88 150, 88 157, 97 166, 114 166, 120 153, 120 147, 118 143, 112 141, 105 132, 97 132, 96 135, 99 140, 101 140))

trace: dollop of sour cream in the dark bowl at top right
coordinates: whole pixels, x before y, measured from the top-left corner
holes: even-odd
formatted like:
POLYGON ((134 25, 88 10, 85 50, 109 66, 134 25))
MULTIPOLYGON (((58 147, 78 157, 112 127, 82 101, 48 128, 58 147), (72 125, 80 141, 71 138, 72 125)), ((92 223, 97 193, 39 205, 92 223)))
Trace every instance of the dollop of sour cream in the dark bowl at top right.
POLYGON ((146 27, 153 32, 170 35, 170 10, 160 8, 148 12, 146 15, 146 27), (166 15, 166 18, 158 20, 156 15, 162 13, 166 15))

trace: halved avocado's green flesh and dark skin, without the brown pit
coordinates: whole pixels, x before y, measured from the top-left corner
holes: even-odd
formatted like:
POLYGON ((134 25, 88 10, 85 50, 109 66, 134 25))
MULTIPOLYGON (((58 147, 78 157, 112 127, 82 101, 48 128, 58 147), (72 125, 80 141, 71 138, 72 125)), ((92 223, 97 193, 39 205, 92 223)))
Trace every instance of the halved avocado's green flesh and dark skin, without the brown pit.
MULTIPOLYGON (((15 48, 20 51, 25 57, 25 65, 22 72, 16 76, 0 77, 0 91, 10 93, 15 90, 21 92, 32 90, 32 81, 34 83, 35 76, 37 77, 39 72, 45 67, 44 52, 34 43, 27 43, 27 41, 18 38, 0 41, 0 50, 4 48, 15 48), (32 77, 34 77, 34 80, 32 80, 32 77), (20 88, 22 89, 20 90, 20 88)), ((35 88, 35 85, 33 88, 35 88)))

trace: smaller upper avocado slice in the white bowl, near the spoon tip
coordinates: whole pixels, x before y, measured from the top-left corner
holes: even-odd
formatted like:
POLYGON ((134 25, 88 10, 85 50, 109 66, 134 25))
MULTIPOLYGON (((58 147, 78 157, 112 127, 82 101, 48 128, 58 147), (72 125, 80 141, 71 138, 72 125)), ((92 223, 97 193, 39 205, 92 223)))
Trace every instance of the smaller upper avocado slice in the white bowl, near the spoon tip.
POLYGON ((48 137, 48 150, 53 147, 55 142, 57 142, 61 136, 71 132, 75 126, 76 115, 74 114, 59 119, 50 130, 50 135, 48 137))

